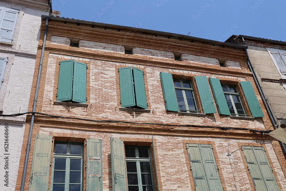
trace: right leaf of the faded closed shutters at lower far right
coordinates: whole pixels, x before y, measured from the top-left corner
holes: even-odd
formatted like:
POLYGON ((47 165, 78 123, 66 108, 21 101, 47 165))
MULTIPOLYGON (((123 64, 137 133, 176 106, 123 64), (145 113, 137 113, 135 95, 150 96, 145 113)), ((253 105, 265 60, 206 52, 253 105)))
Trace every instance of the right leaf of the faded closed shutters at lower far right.
POLYGON ((278 184, 275 180, 273 170, 267 160, 267 156, 263 147, 252 147, 257 164, 262 174, 267 190, 279 191, 278 184))

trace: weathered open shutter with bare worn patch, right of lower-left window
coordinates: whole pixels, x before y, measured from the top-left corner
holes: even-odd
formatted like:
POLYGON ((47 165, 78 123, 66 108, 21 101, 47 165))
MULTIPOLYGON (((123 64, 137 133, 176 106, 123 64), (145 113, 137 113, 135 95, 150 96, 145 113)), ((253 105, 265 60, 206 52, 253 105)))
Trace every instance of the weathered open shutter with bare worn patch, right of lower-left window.
POLYGON ((103 190, 102 184, 102 140, 86 140, 86 191, 103 190))

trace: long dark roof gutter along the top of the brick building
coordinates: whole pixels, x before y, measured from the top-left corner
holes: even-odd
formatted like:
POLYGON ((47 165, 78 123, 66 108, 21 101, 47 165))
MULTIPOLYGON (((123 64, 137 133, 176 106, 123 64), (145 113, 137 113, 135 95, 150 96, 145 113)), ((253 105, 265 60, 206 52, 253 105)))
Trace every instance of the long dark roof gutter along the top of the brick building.
POLYGON ((220 41, 215 41, 215 40, 208 40, 204 38, 197 38, 197 37, 192 37, 192 36, 187 36, 187 35, 182 35, 182 34, 155 31, 155 30, 150 30, 150 29, 141 29, 141 28, 136 28, 136 27, 122 26, 122 25, 112 25, 112 24, 106 24, 106 23, 98 23, 98 22, 92 22, 92 21, 83 21, 83 20, 78 20, 78 19, 69 19, 69 18, 64 18, 64 17, 42 15, 42 19, 45 19, 45 18, 48 18, 49 20, 53 20, 53 21, 71 22, 71 23, 87 24, 87 25, 94 25, 94 26, 100 26, 100 27, 122 29, 122 30, 138 31, 142 33, 158 34, 158 35, 170 36, 174 38, 184 38, 184 39, 196 40, 200 42, 207 42, 210 44, 215 44, 217 46, 221 45, 221 46, 229 46, 233 48, 245 49, 245 46, 242 46, 242 45, 237 45, 237 44, 232 44, 232 43, 227 43, 227 42, 220 42, 220 41))

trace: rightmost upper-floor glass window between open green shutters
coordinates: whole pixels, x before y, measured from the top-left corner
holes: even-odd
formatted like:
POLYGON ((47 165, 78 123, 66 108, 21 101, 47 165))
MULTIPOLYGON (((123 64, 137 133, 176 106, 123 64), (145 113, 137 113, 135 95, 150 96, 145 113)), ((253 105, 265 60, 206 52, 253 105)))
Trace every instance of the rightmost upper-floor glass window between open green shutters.
POLYGON ((235 85, 221 84, 229 111, 233 116, 247 116, 235 85))

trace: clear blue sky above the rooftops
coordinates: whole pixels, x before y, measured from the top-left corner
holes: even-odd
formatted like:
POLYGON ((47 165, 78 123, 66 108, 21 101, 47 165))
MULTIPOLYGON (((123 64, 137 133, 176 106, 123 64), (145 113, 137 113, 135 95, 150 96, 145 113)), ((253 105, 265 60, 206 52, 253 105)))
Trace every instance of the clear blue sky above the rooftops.
POLYGON ((61 17, 225 41, 247 35, 286 41, 283 0, 52 0, 61 17))

